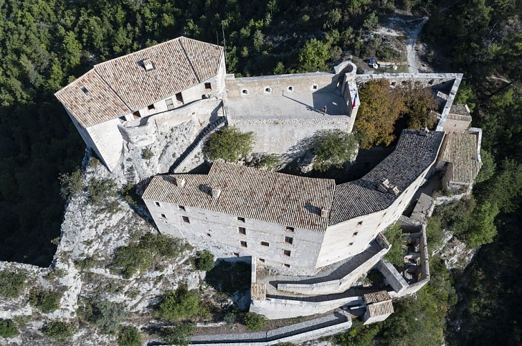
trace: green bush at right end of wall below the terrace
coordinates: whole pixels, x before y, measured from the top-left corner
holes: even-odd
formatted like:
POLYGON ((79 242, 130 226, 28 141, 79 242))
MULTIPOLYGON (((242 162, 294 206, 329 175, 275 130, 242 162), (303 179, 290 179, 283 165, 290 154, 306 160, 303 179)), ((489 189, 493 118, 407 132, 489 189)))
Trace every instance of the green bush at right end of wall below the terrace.
POLYGON ((313 169, 326 172, 331 167, 341 168, 345 163, 353 162, 357 144, 354 134, 339 129, 322 131, 312 141, 313 169))

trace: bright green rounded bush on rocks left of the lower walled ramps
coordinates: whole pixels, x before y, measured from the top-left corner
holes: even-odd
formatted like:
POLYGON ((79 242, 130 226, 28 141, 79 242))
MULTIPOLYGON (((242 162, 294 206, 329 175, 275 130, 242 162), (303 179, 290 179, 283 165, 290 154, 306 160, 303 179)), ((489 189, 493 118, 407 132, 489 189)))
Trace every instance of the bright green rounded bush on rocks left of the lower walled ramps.
POLYGON ((191 318, 200 312, 198 293, 189 291, 186 285, 180 285, 175 291, 165 293, 162 302, 156 309, 159 318, 171 322, 191 318))

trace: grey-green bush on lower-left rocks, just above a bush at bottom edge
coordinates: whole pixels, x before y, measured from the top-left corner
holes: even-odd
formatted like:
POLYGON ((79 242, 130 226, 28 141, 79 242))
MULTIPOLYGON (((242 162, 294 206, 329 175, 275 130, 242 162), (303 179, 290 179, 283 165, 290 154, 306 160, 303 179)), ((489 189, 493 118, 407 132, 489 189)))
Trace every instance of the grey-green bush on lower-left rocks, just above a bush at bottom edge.
MULTIPOLYGON (((87 300, 81 309, 82 318, 103 334, 115 334, 127 318, 125 305, 110 300, 87 300)), ((132 331, 126 333, 132 334, 132 331)))

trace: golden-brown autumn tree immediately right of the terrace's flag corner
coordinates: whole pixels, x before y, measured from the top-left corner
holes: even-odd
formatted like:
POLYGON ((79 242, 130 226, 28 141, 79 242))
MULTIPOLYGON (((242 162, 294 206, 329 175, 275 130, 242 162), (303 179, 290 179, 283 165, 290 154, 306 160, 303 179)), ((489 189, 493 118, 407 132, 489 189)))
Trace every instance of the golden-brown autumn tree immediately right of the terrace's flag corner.
POLYGON ((394 124, 405 110, 403 98, 397 94, 390 89, 388 80, 370 80, 359 89, 361 102, 354 129, 362 149, 390 145, 394 140, 394 124))

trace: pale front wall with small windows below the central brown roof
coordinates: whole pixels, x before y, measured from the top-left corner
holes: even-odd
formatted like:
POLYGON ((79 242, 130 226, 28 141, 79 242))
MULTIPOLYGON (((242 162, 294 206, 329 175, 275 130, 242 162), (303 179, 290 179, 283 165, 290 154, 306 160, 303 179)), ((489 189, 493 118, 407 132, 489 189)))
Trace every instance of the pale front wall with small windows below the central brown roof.
POLYGON ((227 215, 185 206, 180 210, 172 203, 145 200, 159 231, 161 233, 183 237, 199 248, 205 248, 217 256, 255 256, 265 260, 268 266, 280 268, 282 272, 311 275, 319 254, 324 233, 295 228, 294 232, 286 230, 286 225, 254 219, 238 221, 241 215, 227 215), (164 215, 164 217, 163 217, 164 215), (182 220, 189 217, 190 223, 182 220), (238 227, 244 227, 246 235, 239 233, 238 227), (285 242, 285 237, 292 237, 293 244, 285 242), (247 247, 241 246, 246 242, 247 247), (268 242, 269 246, 261 245, 268 242), (284 255, 290 251, 290 256, 284 255), (284 266, 290 264, 290 268, 284 266))

